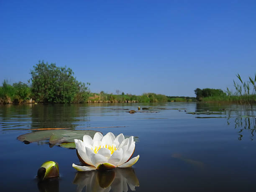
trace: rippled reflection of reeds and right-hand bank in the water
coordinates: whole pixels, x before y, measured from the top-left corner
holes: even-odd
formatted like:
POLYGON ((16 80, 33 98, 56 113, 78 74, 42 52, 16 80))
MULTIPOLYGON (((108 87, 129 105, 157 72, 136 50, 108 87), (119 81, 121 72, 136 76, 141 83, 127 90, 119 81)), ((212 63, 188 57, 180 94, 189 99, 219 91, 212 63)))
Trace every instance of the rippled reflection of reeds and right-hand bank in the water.
POLYGON ((256 118, 255 106, 253 105, 220 105, 218 103, 197 103, 196 112, 202 111, 218 111, 227 118, 227 124, 230 125, 230 120, 235 119, 235 129, 240 129, 238 132, 238 140, 242 140, 244 130, 250 131, 251 140, 256 133, 256 118))

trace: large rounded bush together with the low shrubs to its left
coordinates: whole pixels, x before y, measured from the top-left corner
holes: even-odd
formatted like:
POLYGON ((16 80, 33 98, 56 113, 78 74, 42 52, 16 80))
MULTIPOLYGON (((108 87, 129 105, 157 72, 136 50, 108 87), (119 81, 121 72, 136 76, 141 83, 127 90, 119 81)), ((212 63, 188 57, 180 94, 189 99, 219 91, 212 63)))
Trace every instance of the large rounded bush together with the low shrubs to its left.
POLYGON ((78 82, 72 69, 39 61, 33 66, 31 85, 23 82, 0 87, 0 103, 76 103, 88 98, 88 88, 78 82))

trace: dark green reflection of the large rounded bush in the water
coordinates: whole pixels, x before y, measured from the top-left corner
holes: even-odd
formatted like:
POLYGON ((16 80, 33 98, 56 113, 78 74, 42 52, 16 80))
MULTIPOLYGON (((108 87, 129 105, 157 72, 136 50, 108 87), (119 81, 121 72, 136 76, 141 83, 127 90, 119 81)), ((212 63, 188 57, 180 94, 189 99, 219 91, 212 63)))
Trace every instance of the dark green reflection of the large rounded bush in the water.
POLYGON ((36 105, 31 111, 32 128, 76 128, 90 121, 79 104, 36 105))

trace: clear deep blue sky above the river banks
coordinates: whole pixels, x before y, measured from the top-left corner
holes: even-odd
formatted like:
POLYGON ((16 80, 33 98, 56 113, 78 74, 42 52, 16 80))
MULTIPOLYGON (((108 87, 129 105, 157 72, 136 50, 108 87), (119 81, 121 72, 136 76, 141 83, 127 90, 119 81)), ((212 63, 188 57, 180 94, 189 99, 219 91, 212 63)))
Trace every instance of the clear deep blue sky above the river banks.
POLYGON ((256 72, 256 0, 0 0, 0 83, 38 60, 101 90, 194 96, 256 72))

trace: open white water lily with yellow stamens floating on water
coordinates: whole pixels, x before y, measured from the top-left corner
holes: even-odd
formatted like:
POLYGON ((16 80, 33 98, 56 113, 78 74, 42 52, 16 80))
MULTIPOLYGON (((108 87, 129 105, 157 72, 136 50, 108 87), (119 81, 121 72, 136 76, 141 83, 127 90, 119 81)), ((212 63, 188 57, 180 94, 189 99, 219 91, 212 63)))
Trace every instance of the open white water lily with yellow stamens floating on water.
POLYGON ((135 150, 135 141, 133 141, 133 136, 124 138, 123 133, 115 137, 111 132, 105 136, 97 132, 93 139, 84 135, 83 141, 74 139, 74 142, 78 158, 88 165, 72 164, 74 169, 80 172, 131 167, 140 157, 138 155, 131 159, 135 150))

